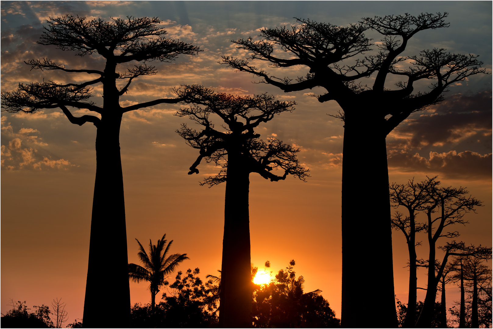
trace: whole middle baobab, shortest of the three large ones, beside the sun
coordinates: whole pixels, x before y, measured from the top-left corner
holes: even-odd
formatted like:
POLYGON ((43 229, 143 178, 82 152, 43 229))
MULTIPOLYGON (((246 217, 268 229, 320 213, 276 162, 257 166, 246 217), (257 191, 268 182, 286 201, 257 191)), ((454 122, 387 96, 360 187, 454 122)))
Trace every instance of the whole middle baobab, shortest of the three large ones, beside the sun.
POLYGON ((250 173, 271 181, 284 180, 291 174, 301 180, 308 176, 296 158, 298 149, 272 138, 258 140, 254 129, 276 114, 293 110, 294 102, 275 101, 267 94, 241 97, 213 93, 203 89, 194 106, 178 110, 178 116, 202 126, 196 131, 182 124, 177 132, 187 144, 199 149, 200 155, 190 167, 189 175, 199 173, 202 159, 222 167, 219 174, 206 178, 204 184, 226 182, 224 201, 224 238, 221 268, 221 311, 219 326, 251 326, 250 229, 248 187, 250 173), (211 115, 219 116, 226 125, 214 129, 211 115), (282 176, 273 170, 282 170, 282 176))

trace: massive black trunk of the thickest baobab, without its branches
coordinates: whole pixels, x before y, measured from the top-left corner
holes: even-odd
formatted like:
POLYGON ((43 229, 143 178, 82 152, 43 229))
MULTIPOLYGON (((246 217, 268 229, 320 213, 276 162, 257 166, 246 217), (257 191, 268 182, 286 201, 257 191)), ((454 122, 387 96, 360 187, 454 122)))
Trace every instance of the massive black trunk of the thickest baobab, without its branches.
POLYGON ((341 312, 344 328, 397 327, 383 120, 351 115, 345 110, 341 312), (369 305, 378 305, 378 314, 369 305))

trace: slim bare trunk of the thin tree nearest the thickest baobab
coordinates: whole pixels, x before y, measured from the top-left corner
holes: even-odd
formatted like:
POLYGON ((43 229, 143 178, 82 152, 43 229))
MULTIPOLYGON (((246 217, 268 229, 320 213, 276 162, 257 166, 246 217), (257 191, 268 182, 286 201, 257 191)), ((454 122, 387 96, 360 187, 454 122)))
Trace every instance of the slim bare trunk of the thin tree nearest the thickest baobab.
POLYGON ((416 324, 416 289, 417 283, 417 267, 416 267, 416 224, 415 217, 412 213, 410 215, 410 231, 409 241, 407 242, 407 248, 409 252, 409 296, 407 299, 407 312, 404 319, 403 328, 414 328, 416 324))

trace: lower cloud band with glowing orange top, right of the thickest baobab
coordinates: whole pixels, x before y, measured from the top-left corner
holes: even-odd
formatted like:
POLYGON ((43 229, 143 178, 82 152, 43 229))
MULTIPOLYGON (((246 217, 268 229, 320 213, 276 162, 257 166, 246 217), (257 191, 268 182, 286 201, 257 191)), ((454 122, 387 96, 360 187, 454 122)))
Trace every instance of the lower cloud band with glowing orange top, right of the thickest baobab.
POLYGON ((472 151, 429 152, 429 158, 407 152, 388 156, 388 167, 405 172, 438 172, 446 178, 485 179, 492 176, 492 153, 472 151))

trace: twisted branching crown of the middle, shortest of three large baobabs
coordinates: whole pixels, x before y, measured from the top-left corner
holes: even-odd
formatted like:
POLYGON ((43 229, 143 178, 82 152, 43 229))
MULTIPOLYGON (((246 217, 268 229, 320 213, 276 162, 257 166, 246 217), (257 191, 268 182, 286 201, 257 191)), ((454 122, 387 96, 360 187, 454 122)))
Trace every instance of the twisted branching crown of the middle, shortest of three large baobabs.
POLYGON ((176 115, 189 118, 203 126, 202 131, 189 128, 185 123, 177 133, 187 144, 200 150, 200 155, 190 167, 189 175, 199 173, 197 166, 202 159, 221 166, 216 176, 207 178, 204 183, 216 185, 226 181, 228 154, 241 152, 244 167, 249 173, 258 173, 271 181, 284 180, 291 174, 305 181, 308 170, 304 169, 296 158, 298 149, 269 138, 267 142, 258 140, 259 134, 254 132, 261 123, 270 121, 276 114, 294 109, 294 102, 276 101, 273 96, 262 94, 251 96, 235 96, 214 93, 204 89, 200 97, 193 99, 195 106, 181 108, 176 115), (221 130, 214 129, 211 114, 215 114, 226 126, 221 130), (225 130, 225 131, 224 131, 225 130), (282 176, 273 174, 273 170, 284 171, 282 176))

